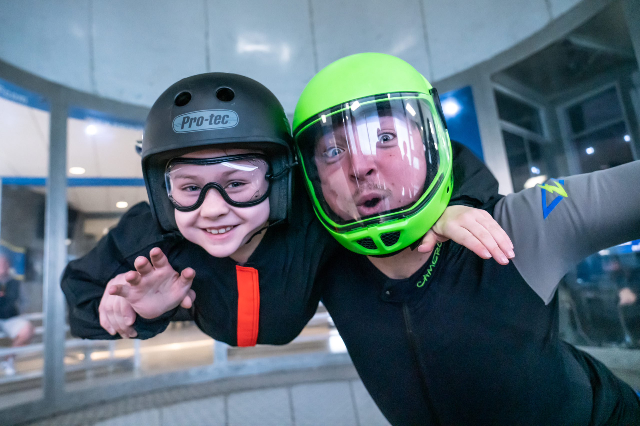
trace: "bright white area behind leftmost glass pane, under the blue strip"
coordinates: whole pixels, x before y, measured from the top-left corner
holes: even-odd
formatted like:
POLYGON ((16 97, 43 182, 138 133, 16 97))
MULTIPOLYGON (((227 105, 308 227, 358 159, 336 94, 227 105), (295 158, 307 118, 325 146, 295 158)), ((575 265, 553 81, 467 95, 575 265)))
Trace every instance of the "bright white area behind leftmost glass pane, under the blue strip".
POLYGON ((49 112, 0 98, 0 176, 47 176, 49 112))

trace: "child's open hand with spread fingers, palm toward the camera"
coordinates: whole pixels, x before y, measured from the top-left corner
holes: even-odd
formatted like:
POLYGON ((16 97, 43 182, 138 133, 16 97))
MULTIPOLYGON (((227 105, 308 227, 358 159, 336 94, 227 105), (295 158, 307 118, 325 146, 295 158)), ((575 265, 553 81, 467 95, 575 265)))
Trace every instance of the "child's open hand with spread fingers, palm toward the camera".
POLYGON ((112 296, 122 296, 143 318, 155 318, 178 305, 190 308, 196 298, 191 283, 196 272, 186 268, 177 273, 157 247, 149 252, 151 262, 138 256, 134 262, 136 271, 124 274, 124 283, 107 286, 112 296))

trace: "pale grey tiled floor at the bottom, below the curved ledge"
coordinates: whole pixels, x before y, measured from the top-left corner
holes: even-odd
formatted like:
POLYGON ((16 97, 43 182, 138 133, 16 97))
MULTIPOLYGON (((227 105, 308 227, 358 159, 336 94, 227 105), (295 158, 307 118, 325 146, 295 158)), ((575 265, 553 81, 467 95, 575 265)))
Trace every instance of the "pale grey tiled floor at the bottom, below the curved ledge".
MULTIPOLYGON (((42 423, 38 423, 40 425, 42 423)), ((359 380, 297 384, 180 402, 92 426, 387 426, 359 380)))

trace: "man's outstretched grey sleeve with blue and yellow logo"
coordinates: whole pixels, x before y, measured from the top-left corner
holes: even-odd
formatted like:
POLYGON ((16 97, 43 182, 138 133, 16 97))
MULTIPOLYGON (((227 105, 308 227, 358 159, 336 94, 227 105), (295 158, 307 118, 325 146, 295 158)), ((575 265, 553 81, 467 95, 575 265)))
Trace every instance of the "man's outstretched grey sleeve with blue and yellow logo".
POLYGON ((493 217, 513 242, 518 272, 549 303, 582 259, 640 238, 640 160, 509 194, 493 217))

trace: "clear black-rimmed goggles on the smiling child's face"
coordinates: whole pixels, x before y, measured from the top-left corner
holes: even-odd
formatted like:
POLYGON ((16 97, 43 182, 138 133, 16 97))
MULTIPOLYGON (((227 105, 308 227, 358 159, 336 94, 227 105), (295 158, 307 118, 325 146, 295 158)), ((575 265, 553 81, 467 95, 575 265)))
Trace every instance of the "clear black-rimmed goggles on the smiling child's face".
POLYGON ((253 206, 269 195, 269 163, 260 155, 174 158, 164 172, 167 194, 177 209, 198 208, 217 190, 234 206, 253 206))

